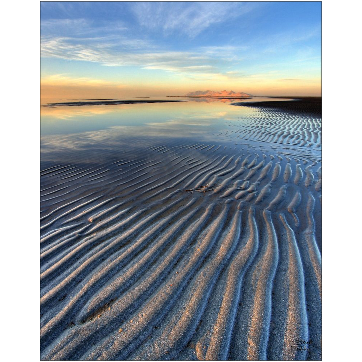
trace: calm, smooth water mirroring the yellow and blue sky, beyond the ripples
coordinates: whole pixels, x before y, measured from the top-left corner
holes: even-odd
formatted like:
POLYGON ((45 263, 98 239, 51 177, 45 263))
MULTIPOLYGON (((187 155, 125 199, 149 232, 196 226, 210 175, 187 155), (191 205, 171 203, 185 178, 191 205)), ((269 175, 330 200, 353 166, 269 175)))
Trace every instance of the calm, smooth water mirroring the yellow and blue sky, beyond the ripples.
MULTIPOLYGON (((150 98, 152 99, 152 98, 150 98)), ((182 100, 170 103, 41 107, 41 162, 105 162, 125 151, 156 145, 219 142, 233 122, 251 109, 231 106, 250 100, 182 100)), ((265 100, 255 98, 254 100, 265 100)), ((69 100, 46 100, 42 104, 69 100)), ((74 100, 76 101, 76 100, 74 100)), ((224 146, 223 146, 224 147, 224 146)), ((232 147, 235 149, 236 147, 232 147)))

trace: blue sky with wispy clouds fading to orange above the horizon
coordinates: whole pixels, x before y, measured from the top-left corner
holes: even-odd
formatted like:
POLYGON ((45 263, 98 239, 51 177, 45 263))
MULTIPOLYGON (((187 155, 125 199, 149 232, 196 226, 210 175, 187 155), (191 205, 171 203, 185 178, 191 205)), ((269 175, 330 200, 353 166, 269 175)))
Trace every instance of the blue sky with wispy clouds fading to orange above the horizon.
POLYGON ((41 2, 41 97, 321 95, 320 1, 41 2))

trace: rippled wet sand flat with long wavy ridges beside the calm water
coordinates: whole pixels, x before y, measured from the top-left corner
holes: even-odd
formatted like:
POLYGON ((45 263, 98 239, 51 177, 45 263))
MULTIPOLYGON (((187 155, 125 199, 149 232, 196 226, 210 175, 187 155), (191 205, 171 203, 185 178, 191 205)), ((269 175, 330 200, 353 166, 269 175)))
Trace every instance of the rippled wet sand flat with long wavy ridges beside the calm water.
POLYGON ((321 359, 320 101, 243 107, 44 163, 42 359, 321 359))

